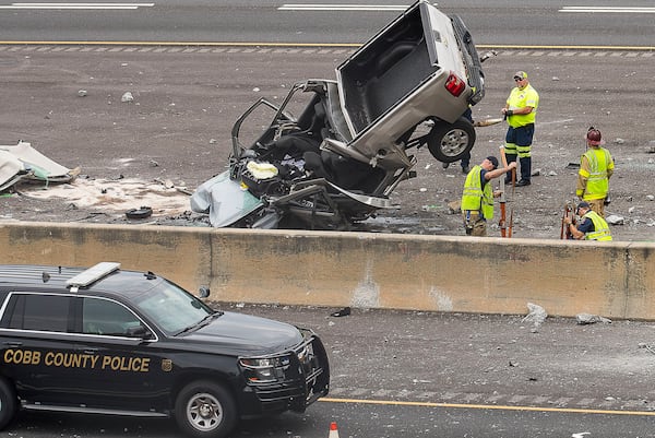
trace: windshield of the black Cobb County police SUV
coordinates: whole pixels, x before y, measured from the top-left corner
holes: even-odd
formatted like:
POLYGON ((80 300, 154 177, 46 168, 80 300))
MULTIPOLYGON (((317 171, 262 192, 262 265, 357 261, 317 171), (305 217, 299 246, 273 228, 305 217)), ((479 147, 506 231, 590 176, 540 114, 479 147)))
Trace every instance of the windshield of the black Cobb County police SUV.
POLYGON ((209 306, 175 284, 162 281, 142 293, 136 308, 168 334, 179 333, 213 315, 209 306))

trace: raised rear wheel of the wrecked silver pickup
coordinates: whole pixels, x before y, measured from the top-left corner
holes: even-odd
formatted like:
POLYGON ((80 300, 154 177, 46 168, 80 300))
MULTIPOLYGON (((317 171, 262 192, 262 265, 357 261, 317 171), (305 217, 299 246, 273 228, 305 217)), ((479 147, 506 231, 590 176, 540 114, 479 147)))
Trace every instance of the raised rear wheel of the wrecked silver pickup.
POLYGON ((443 163, 462 159, 475 144, 475 128, 464 117, 454 123, 436 120, 428 133, 428 149, 432 156, 443 163))

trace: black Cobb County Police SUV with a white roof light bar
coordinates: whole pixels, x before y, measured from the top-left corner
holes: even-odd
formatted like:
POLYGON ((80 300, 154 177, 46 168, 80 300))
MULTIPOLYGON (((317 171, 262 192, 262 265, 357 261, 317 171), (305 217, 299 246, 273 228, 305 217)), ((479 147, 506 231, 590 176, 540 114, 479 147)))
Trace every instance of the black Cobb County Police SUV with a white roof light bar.
POLYGON ((189 436, 225 437, 330 386, 312 331, 213 310, 112 262, 0 265, 0 429, 24 409, 172 416, 189 436))

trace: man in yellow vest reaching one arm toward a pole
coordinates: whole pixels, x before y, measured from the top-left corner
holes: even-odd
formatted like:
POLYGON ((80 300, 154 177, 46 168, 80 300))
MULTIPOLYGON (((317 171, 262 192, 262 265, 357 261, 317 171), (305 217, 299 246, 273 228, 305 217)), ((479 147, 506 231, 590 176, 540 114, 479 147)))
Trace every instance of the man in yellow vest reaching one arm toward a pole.
POLYGON ((515 167, 516 163, 514 162, 510 163, 508 167, 498 168, 498 158, 490 155, 468 171, 464 182, 461 208, 464 229, 468 236, 487 235, 487 221, 493 218, 493 198, 500 196, 500 191, 492 191, 489 181, 515 167))

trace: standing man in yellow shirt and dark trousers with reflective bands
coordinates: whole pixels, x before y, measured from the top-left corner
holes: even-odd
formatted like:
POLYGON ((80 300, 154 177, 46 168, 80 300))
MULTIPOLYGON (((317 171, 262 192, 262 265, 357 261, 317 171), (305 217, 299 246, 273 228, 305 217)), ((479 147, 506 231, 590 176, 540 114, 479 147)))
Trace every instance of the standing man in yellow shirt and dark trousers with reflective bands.
MULTIPOLYGON (((516 187, 529 186, 532 176, 531 146, 535 134, 535 118, 539 106, 539 94, 529 84, 527 73, 517 71, 514 73, 516 86, 512 88, 505 106, 501 109, 508 121, 505 134, 505 154, 509 163, 521 164, 521 179, 516 187)), ((505 178, 505 182, 510 182, 505 178)))

